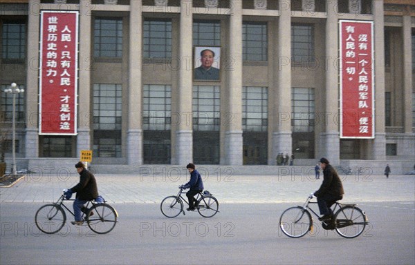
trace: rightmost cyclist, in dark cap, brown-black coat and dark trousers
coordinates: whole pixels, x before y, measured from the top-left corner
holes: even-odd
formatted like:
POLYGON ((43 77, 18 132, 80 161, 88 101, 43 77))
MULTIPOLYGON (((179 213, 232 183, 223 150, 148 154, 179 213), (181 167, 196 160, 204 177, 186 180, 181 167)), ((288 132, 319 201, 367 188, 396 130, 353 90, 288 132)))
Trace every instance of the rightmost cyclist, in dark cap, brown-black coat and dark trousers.
POLYGON ((344 190, 342 181, 333 166, 330 165, 329 160, 322 157, 320 164, 324 179, 320 188, 314 193, 314 196, 317 197, 318 208, 320 209, 320 214, 323 215, 319 220, 326 221, 331 219, 331 215, 333 215, 330 207, 343 198, 344 190))

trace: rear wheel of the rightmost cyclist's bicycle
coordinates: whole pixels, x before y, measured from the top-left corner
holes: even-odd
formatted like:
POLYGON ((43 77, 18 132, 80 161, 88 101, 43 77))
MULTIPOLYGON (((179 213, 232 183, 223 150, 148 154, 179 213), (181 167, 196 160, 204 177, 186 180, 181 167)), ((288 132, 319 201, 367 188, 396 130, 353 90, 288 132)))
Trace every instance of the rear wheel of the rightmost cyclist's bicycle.
POLYGON ((345 238, 363 233, 367 224, 365 213, 356 206, 344 206, 335 213, 335 231, 345 238))

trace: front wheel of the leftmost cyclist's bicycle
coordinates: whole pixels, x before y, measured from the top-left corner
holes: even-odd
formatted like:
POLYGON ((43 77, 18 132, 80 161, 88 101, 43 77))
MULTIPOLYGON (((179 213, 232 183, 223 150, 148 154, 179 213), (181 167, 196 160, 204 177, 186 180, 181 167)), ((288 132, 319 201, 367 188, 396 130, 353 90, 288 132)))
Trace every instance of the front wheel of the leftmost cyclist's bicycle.
POLYGON ((54 234, 61 230, 66 222, 66 214, 61 206, 46 204, 37 210, 35 223, 37 228, 46 234, 54 234))

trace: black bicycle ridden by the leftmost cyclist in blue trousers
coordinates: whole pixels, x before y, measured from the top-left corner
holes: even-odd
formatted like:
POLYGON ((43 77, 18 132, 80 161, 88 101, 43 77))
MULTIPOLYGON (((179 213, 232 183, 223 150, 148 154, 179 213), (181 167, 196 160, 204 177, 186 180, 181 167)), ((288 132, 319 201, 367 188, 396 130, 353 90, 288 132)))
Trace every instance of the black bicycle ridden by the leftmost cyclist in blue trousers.
MULTIPOLYGON (((54 234, 61 230, 66 222, 64 208, 75 216, 75 214, 64 204, 66 201, 75 201, 75 199, 66 199, 65 195, 62 194, 57 202, 45 204, 40 207, 35 214, 37 228, 46 234, 54 234)), ((82 220, 88 224, 93 232, 97 234, 107 234, 113 230, 114 226, 116 226, 118 213, 116 209, 107 204, 106 201, 97 203, 91 200, 85 207, 87 210, 82 210, 82 220)))

